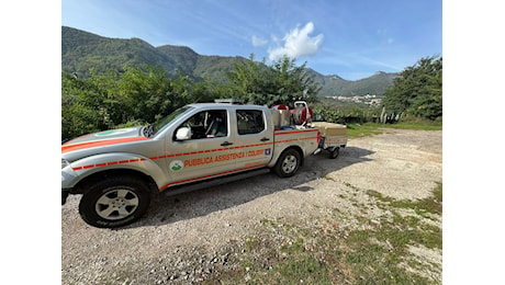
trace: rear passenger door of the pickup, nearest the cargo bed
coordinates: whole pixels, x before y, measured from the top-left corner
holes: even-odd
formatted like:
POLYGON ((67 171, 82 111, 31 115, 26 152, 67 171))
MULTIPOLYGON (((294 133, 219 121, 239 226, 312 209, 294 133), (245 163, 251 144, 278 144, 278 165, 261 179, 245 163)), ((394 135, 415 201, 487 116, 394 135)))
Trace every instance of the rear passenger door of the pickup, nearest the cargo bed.
POLYGON ((262 110, 236 110, 236 141, 243 146, 244 156, 237 159, 237 169, 266 167, 273 151, 272 124, 267 124, 262 110))

